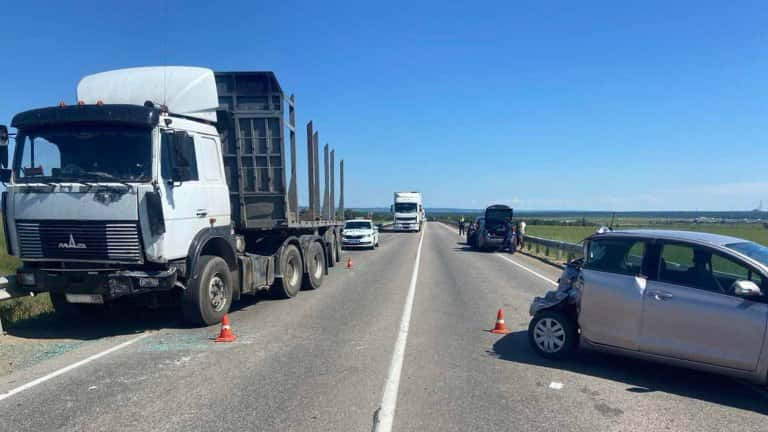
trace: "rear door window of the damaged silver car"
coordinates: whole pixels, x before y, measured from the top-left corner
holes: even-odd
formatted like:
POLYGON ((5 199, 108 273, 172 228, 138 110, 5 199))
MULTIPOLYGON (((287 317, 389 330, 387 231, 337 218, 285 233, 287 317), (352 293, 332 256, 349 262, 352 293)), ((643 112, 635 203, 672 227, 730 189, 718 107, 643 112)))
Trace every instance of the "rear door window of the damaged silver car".
POLYGON ((625 275, 642 273, 645 242, 637 239, 595 239, 589 242, 584 268, 625 275))

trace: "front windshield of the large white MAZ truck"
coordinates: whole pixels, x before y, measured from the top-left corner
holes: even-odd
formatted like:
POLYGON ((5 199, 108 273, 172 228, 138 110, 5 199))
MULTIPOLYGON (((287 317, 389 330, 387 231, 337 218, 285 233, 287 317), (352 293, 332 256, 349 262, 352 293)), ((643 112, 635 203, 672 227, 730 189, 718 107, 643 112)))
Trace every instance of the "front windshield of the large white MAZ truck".
POLYGON ((127 126, 56 126, 20 130, 17 182, 147 181, 152 178, 152 133, 127 126))

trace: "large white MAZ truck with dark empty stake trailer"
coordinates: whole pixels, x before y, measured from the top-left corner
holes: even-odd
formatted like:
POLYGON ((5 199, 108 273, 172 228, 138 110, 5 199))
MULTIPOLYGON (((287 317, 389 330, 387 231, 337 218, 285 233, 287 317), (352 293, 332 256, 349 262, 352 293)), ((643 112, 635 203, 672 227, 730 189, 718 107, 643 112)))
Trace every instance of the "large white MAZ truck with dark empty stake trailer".
POLYGON ((343 161, 337 211, 334 154, 329 169, 326 145, 321 196, 310 122, 310 200, 300 212, 294 118, 293 96, 272 72, 197 67, 86 76, 75 104, 17 114, 10 166, 0 127, 7 247, 23 262, 17 283, 49 292, 68 316, 132 297, 181 305, 204 325, 244 294, 319 288, 339 261, 343 161))

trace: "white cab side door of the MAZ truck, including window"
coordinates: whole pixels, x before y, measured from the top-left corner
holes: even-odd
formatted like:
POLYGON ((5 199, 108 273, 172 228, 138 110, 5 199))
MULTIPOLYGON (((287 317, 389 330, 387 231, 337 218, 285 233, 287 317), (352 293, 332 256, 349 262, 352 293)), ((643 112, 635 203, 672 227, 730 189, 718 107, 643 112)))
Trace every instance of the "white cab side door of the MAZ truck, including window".
POLYGON ((184 131, 160 134, 160 177, 165 216, 163 255, 186 257, 197 233, 208 227, 209 199, 200 181, 195 138, 184 131))

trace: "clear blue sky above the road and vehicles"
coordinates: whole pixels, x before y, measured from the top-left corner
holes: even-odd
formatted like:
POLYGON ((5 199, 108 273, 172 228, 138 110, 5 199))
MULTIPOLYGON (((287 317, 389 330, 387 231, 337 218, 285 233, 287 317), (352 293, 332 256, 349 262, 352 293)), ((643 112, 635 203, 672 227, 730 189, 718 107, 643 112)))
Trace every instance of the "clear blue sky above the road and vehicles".
POLYGON ((348 206, 768 203, 764 1, 73 3, 3 6, 0 122, 92 72, 273 70, 348 206))

